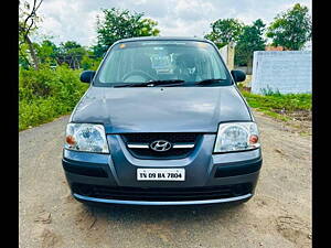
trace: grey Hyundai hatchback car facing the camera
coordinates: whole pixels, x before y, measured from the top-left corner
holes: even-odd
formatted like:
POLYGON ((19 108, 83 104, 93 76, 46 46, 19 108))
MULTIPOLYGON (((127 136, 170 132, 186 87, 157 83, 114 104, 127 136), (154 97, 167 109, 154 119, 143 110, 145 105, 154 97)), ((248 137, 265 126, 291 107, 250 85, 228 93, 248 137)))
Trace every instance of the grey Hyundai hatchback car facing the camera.
POLYGON ((66 127, 62 164, 83 203, 246 202, 261 168, 259 134, 217 47, 195 37, 114 43, 66 127))

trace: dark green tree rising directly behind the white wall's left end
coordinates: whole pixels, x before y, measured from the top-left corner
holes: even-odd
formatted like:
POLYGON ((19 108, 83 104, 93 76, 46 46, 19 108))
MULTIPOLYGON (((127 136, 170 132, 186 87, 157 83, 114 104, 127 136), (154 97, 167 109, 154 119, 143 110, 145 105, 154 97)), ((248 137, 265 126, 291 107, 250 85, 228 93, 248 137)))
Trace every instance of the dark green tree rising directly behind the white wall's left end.
POLYGON ((243 33, 238 36, 235 50, 235 63, 247 63, 247 74, 252 74, 254 51, 265 50, 266 40, 263 37, 265 26, 266 24, 258 19, 253 22, 253 25, 245 25, 243 33))

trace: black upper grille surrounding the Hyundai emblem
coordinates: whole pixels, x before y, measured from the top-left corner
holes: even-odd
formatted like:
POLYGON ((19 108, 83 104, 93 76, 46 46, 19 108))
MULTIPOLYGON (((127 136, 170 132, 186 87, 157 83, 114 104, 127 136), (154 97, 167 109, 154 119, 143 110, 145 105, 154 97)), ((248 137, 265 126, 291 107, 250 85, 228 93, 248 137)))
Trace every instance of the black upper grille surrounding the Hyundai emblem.
POLYGON ((197 143, 201 133, 125 133, 121 134, 122 140, 127 144, 129 152, 138 159, 182 159, 188 157, 197 143), (174 144, 191 144, 192 148, 172 147, 168 151, 153 151, 150 143, 157 140, 169 141, 174 144), (146 148, 129 148, 128 144, 143 144, 146 148))

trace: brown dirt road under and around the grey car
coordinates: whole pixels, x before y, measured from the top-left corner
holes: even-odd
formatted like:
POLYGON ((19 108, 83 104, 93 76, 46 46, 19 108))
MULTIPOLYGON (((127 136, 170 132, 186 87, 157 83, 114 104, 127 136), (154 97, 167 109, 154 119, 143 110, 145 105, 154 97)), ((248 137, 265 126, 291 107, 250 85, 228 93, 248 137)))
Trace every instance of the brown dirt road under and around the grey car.
POLYGON ((61 165, 68 117, 20 132, 20 247, 311 247, 311 136, 255 116, 264 164, 238 206, 86 207, 61 165))

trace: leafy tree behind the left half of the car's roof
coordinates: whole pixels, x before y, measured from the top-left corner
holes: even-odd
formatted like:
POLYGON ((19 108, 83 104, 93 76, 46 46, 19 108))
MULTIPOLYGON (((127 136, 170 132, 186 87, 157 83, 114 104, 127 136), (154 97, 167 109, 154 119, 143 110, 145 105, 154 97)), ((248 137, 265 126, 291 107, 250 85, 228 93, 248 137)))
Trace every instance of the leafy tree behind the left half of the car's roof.
POLYGON ((135 36, 156 36, 160 33, 158 22, 142 19, 143 13, 130 13, 128 10, 104 9, 104 19, 97 17, 96 55, 102 56, 110 45, 120 39, 135 36))

